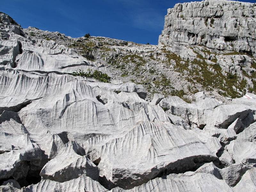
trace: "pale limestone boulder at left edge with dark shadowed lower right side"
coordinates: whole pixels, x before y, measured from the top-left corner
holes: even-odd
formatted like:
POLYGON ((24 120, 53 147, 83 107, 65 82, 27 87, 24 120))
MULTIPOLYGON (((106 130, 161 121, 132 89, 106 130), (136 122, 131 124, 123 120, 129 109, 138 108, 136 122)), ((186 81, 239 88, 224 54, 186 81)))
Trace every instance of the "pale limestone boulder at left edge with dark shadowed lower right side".
POLYGON ((27 162, 42 158, 41 149, 18 118, 15 112, 4 111, 0 115, 0 179, 25 178, 29 170, 27 162))

